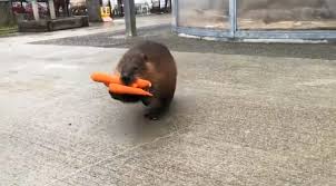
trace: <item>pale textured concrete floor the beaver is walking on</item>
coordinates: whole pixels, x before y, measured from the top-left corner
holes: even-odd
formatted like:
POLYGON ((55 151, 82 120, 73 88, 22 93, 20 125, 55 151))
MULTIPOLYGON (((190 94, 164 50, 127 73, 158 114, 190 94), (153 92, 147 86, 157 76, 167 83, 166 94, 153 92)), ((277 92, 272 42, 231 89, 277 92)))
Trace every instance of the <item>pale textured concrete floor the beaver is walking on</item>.
POLYGON ((126 49, 27 43, 70 36, 0 39, 0 185, 336 184, 336 60, 172 51, 148 121, 89 79, 126 49))

